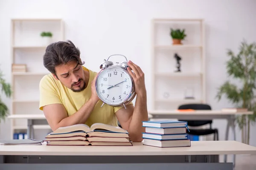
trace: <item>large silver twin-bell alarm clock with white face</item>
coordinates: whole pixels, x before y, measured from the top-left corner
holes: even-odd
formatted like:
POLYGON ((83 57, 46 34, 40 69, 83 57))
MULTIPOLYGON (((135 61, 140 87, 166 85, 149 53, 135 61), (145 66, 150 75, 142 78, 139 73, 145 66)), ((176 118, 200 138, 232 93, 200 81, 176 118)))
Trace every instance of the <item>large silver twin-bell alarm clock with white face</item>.
MULTIPOLYGON (((128 72, 129 67, 124 55, 113 54, 108 57, 107 61, 100 65, 101 71, 95 80, 96 93, 103 104, 121 107, 130 103, 136 96, 134 80, 128 72), (122 56, 126 61, 121 63, 108 61, 111 56, 122 56)), ((125 107, 126 108, 126 107, 125 107)))

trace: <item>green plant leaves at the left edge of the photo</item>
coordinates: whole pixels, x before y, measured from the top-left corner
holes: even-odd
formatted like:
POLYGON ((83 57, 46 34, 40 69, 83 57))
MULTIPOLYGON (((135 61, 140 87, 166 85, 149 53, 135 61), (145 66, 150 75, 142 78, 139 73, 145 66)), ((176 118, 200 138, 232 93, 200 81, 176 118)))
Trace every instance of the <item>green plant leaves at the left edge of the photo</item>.
MULTIPOLYGON (((3 73, 0 71, 0 88, 2 92, 7 96, 10 97, 12 94, 11 85, 6 83, 6 80, 3 78, 3 73)), ((0 121, 1 119, 5 120, 6 116, 9 114, 9 109, 6 104, 3 102, 0 96, 0 121)))

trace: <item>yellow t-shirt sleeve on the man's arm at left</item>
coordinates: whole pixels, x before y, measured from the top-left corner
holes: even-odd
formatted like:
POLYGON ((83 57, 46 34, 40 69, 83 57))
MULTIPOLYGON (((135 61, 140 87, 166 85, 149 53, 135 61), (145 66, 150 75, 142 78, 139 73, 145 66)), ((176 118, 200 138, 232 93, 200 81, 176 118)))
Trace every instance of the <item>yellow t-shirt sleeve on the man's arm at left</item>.
POLYGON ((61 99, 56 90, 56 84, 49 75, 44 76, 39 83, 40 101, 39 109, 50 104, 62 104, 61 99))

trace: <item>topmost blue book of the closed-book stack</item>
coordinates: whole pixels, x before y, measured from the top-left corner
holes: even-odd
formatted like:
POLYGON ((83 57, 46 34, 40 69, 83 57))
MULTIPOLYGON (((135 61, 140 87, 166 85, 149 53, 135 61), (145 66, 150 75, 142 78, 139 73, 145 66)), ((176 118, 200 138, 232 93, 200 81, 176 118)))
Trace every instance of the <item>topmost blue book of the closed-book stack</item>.
POLYGON ((173 121, 173 120, 143 121, 143 127, 173 128, 173 127, 187 127, 187 125, 188 125, 188 122, 173 121))

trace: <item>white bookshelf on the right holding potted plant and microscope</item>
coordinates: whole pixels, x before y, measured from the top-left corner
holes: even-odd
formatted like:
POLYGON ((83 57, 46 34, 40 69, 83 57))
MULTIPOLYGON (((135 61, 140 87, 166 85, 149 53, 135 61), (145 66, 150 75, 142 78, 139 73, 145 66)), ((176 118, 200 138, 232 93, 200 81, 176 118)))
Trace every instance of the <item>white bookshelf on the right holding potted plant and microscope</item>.
POLYGON ((151 22, 151 90, 153 110, 173 110, 206 101, 205 35, 203 19, 158 18, 151 22), (170 28, 185 29, 182 45, 173 45, 170 28), (175 72, 175 53, 181 72, 175 72), (185 98, 186 94, 194 98, 185 98))

